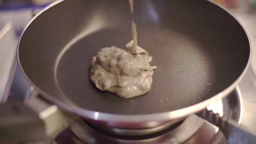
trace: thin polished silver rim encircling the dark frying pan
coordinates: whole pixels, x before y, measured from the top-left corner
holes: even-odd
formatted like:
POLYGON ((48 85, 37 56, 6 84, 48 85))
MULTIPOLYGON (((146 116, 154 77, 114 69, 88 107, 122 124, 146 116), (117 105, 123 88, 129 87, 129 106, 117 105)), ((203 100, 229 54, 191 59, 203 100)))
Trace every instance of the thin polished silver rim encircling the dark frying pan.
POLYGON ((228 10, 226 10, 221 5, 217 4, 216 2, 212 2, 207 0, 208 2, 217 5, 219 8, 223 9, 228 13, 230 16, 232 16, 236 22, 239 23, 239 25, 242 27, 243 31, 247 35, 247 39, 249 42, 249 57, 246 64, 245 69, 242 71, 241 75, 237 77, 237 79, 228 87, 226 87, 222 92, 218 93, 217 95, 212 96, 209 99, 206 99, 204 101, 201 101, 200 103, 184 107, 182 109, 174 110, 174 111, 167 111, 167 112, 160 112, 160 113, 151 113, 151 114, 141 114, 141 115, 122 115, 122 114, 113 114, 113 113, 104 113, 104 112, 97 112, 97 111, 91 111, 82 109, 77 106, 68 105, 66 103, 63 103, 61 100, 58 100, 54 97, 51 97, 50 94, 44 92, 42 89, 40 89, 37 85, 35 85, 30 78, 25 73, 24 69, 22 68, 21 62, 20 62, 20 56, 19 56, 19 47, 20 47, 20 41, 22 39, 22 36, 24 35, 26 29, 30 24, 44 11, 54 7, 54 5, 61 3, 65 0, 58 0, 54 3, 49 4, 46 8, 44 8, 40 13, 38 13, 36 16, 33 17, 33 19, 28 23, 28 25, 25 27, 24 31, 21 34, 21 37, 18 41, 18 48, 16 51, 17 61, 19 65, 19 69, 21 70, 22 75, 25 77, 25 79, 30 83, 31 87, 38 93, 42 94, 42 97, 46 100, 50 101, 53 105, 56 105, 60 107, 62 110, 65 110, 67 112, 74 113, 80 117, 86 118, 86 119, 92 119, 94 121, 102 121, 102 122, 111 122, 111 123, 143 123, 143 122, 152 122, 152 121, 172 121, 173 119, 183 118, 187 117, 188 115, 191 115, 193 113, 199 112, 203 109, 206 109, 206 107, 215 101, 222 99, 226 97, 229 93, 234 91, 235 87, 240 83, 240 81, 243 79, 243 77, 246 75, 247 71, 250 68, 250 63, 252 59, 252 43, 249 39, 248 32, 243 27, 243 25, 236 19, 234 15, 232 15, 228 10))

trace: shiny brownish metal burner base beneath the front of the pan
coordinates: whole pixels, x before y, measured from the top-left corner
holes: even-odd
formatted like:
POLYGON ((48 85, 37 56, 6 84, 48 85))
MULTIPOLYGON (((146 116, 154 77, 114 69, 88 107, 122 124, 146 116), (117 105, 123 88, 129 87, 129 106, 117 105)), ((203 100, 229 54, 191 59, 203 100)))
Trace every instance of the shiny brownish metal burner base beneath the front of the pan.
POLYGON ((127 137, 120 137, 120 135, 113 136, 111 134, 106 134, 106 131, 104 132, 100 130, 99 127, 96 129, 94 126, 91 127, 88 123, 85 123, 82 119, 79 119, 79 121, 71 125, 73 134, 86 144, 226 143, 224 135, 217 127, 197 117, 196 115, 189 116, 184 122, 175 125, 175 127, 169 125, 164 132, 160 131, 159 133, 151 135, 150 137, 136 136, 137 139, 127 139, 127 137))

